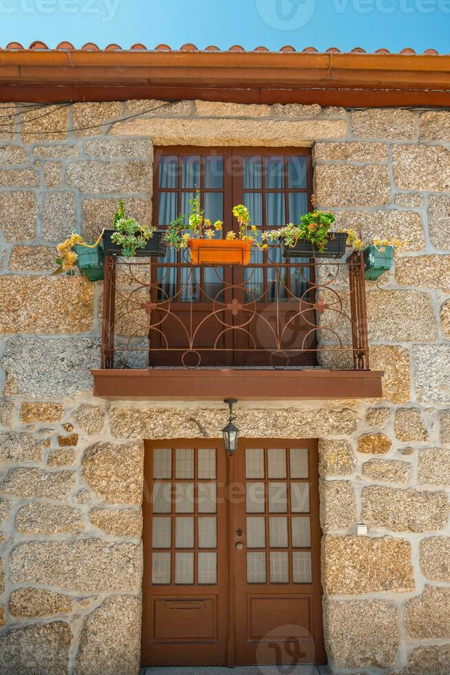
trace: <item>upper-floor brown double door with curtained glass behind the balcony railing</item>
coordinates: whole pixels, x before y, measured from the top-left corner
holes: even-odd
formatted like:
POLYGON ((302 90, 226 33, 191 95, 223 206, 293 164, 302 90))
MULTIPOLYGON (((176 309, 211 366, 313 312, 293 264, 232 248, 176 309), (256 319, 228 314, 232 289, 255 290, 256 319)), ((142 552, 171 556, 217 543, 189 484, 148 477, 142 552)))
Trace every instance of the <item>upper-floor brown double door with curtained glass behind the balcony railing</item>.
MULTIPOLYGON (((163 230, 180 213, 187 220, 189 200, 199 189, 205 217, 224 222, 215 238, 231 231, 237 236, 231 213, 237 204, 248 207, 260 237, 298 222, 310 209, 311 180, 308 148, 157 148, 153 225, 163 230)), ((245 267, 193 267, 189 251, 169 250, 153 263, 152 284, 158 283, 153 286, 150 364, 268 366, 278 365, 275 352, 290 350, 290 365, 314 365, 315 335, 308 335, 305 318, 312 311, 310 269, 302 269, 299 273, 298 264, 283 262, 277 245, 268 251, 254 247, 245 267), (288 326, 277 344, 280 322, 288 326)))

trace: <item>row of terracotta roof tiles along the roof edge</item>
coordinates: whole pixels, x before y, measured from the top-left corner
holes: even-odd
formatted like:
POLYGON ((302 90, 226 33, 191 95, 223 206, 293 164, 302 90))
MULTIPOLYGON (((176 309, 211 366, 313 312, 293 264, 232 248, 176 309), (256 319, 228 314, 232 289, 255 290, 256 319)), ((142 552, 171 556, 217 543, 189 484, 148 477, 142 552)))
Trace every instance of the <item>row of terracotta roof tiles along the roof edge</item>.
MULTIPOLYGON (((56 48, 48 47, 45 42, 42 42, 41 40, 35 40, 30 44, 29 47, 24 47, 21 45, 20 42, 10 42, 8 45, 6 45, 5 48, 0 47, 1 49, 6 49, 6 50, 52 50, 52 49, 57 49, 57 50, 74 50, 77 51, 80 48, 74 47, 74 45, 71 42, 68 42, 66 40, 63 40, 62 42, 58 43, 56 45, 56 48)), ((264 45, 259 45, 258 47, 255 47, 253 50, 245 50, 242 45, 232 45, 228 49, 221 50, 219 47, 216 47, 215 45, 209 45, 208 47, 205 47, 204 49, 200 50, 197 48, 196 45, 193 45, 192 43, 186 43, 185 45, 182 45, 179 49, 173 49, 171 48, 170 45, 166 44, 160 44, 156 45, 155 48, 147 48, 146 45, 142 43, 136 43, 134 45, 131 45, 129 48, 123 48, 122 46, 112 43, 110 45, 107 45, 105 49, 100 49, 98 45, 94 42, 87 42, 83 47, 81 47, 81 50, 85 50, 87 52, 111 52, 111 51, 156 51, 156 52, 171 52, 171 51, 180 51, 180 52, 270 52, 270 49, 265 47, 264 45)), ((319 50, 315 47, 306 47, 302 50, 297 50, 292 45, 284 45, 284 47, 281 47, 279 52, 314 52, 315 54, 319 53, 319 50)), ((273 52, 272 52, 273 53, 273 52)), ((322 52, 325 54, 341 54, 342 50, 340 50, 337 47, 329 47, 325 52, 322 52)), ((349 50, 350 54, 390 54, 388 49, 385 47, 381 47, 375 52, 367 52, 365 49, 362 47, 354 47, 352 50, 349 50)), ((400 52, 395 52, 398 54, 416 54, 417 52, 412 49, 411 47, 405 47, 405 49, 400 50, 400 52)), ((422 52, 423 54, 439 54, 435 49, 429 48, 422 52)))

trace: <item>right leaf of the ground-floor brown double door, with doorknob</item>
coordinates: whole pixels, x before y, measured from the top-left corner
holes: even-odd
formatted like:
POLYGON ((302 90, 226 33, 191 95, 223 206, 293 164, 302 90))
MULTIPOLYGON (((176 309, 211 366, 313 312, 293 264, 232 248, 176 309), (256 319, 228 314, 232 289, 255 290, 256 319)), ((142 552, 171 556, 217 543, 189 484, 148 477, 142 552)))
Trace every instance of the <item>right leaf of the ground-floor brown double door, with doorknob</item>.
POLYGON ((235 663, 325 663, 317 442, 244 439, 233 462, 235 663))

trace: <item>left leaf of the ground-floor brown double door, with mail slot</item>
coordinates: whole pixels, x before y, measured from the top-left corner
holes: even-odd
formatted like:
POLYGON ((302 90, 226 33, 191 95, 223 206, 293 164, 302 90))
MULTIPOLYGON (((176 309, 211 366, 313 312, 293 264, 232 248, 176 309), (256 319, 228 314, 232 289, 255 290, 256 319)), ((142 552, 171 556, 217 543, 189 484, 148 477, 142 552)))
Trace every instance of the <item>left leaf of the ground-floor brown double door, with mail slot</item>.
POLYGON ((146 442, 144 477, 142 664, 222 665, 226 455, 217 441, 146 442))

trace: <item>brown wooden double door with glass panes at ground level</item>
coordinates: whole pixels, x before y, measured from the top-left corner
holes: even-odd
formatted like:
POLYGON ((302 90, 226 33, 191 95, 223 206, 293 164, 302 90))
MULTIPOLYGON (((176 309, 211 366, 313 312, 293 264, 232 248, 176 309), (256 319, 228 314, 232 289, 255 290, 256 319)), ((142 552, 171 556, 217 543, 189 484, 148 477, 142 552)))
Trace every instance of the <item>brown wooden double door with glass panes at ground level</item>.
POLYGON ((317 442, 146 442, 142 666, 325 663, 317 442))

